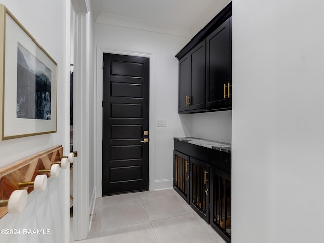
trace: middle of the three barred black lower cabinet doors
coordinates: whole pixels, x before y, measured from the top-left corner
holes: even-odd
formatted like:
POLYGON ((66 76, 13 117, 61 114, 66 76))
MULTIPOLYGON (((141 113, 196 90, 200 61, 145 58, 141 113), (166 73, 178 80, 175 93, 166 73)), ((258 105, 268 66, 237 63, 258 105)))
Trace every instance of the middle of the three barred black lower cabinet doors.
POLYGON ((209 223, 209 165, 190 158, 190 205, 209 223))

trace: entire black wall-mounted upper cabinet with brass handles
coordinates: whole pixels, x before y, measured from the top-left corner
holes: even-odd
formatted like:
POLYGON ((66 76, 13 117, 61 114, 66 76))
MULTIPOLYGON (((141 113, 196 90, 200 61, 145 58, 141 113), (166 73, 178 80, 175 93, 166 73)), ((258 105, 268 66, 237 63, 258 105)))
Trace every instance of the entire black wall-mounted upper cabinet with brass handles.
POLYGON ((231 15, 230 2, 176 55, 179 113, 231 109, 231 15))

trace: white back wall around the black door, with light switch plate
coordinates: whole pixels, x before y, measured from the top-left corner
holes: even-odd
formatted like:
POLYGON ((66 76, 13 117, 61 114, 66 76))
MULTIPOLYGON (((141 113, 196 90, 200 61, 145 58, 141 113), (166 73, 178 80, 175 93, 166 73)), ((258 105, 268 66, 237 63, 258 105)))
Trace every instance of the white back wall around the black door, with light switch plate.
MULTIPOLYGON (((154 141, 150 142, 150 147, 153 146, 154 150, 155 189, 172 187, 173 137, 184 136, 184 129, 178 115, 178 60, 175 54, 188 41, 189 39, 184 37, 106 24, 95 24, 96 47, 136 53, 150 53, 154 56, 155 65, 151 68, 154 71, 155 83, 150 84, 151 87, 154 87, 154 90, 150 93, 150 99, 153 98, 154 101, 151 102, 151 106, 154 105, 155 117, 150 119, 150 124, 155 125, 156 119, 167 120, 165 128, 153 126, 154 131, 150 131, 150 134, 154 133, 155 138, 154 141)), ((97 65, 101 66, 101 62, 97 65)), ((102 80, 100 78, 97 79, 97 85, 102 87, 102 80)), ((97 90, 102 92, 100 87, 97 90)), ((97 97, 99 99, 98 105, 101 106, 102 93, 97 93, 97 97)), ((101 123, 102 116, 97 116, 97 119, 101 123)), ((100 132, 102 130, 100 131, 99 129, 100 132)), ((100 156, 100 152, 98 156, 100 156)), ((102 161, 101 159, 97 159, 97 161, 97 177, 98 181, 101 182, 102 161)), ((152 178, 150 180, 152 183, 152 178)))

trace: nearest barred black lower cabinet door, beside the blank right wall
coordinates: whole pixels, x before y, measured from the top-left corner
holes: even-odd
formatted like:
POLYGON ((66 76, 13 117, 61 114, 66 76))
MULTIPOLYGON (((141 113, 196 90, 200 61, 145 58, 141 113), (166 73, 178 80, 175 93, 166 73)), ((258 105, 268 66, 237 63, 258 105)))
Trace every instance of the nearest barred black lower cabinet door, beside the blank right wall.
POLYGON ((231 178, 227 173, 211 167, 210 224, 231 242, 231 178))

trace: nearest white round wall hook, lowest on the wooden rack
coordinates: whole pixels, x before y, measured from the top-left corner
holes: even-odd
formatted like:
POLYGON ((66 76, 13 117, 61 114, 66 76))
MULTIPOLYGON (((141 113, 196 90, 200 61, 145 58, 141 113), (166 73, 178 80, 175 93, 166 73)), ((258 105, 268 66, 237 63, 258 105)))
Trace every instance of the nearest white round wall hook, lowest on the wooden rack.
POLYGON ((15 214, 24 210, 27 203, 27 190, 15 190, 8 200, 0 200, 0 207, 7 206, 8 213, 15 214))

